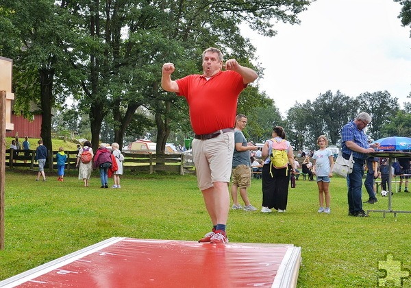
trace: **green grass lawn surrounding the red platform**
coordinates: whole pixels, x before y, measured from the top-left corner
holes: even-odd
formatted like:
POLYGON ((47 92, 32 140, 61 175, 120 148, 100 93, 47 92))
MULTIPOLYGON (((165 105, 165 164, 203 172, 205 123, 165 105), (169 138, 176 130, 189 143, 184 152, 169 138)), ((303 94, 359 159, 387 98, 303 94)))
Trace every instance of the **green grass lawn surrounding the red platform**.
MULTIPOLYGON (((48 176, 35 182, 34 172, 6 173, 0 279, 110 237, 197 241, 210 230, 195 176, 127 174, 121 189, 100 189, 97 173, 88 189, 75 171, 64 182, 48 176)), ((301 247, 298 287, 377 287, 387 254, 411 269, 411 214, 349 217, 345 180, 332 178, 330 191, 330 215, 316 212, 316 182, 301 179, 289 191, 287 213, 230 211, 229 240, 301 247)), ((249 198, 260 207, 261 180, 253 180, 249 198)), ((388 208, 388 197, 378 198, 364 210, 388 208)), ((393 208, 411 210, 411 195, 395 193, 393 208)))

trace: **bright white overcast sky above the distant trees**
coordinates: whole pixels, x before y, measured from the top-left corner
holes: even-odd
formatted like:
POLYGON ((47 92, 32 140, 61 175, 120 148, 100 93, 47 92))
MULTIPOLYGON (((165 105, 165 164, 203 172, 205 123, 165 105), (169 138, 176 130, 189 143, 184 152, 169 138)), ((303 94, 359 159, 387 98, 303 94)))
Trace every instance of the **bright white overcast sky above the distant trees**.
POLYGON ((283 115, 329 90, 411 101, 410 27, 401 26, 400 10, 393 0, 317 0, 301 25, 279 23, 273 38, 246 32, 265 68, 262 91, 283 115))

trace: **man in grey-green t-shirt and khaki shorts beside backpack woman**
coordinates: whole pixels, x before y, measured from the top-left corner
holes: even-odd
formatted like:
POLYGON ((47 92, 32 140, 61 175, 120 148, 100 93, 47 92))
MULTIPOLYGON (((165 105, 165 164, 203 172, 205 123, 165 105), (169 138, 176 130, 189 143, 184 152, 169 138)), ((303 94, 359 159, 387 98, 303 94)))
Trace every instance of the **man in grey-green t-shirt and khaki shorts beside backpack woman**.
POLYGON ((242 130, 247 125, 247 117, 238 114, 236 117, 236 128, 234 128, 234 154, 232 165, 232 187, 231 195, 233 198, 232 209, 244 209, 245 211, 256 211, 253 205, 250 204, 247 195, 247 188, 251 186, 251 169, 250 169, 250 150, 256 151, 257 146, 253 143, 247 143, 242 130), (240 189, 240 196, 244 201, 245 206, 242 207, 238 203, 238 189, 240 189))

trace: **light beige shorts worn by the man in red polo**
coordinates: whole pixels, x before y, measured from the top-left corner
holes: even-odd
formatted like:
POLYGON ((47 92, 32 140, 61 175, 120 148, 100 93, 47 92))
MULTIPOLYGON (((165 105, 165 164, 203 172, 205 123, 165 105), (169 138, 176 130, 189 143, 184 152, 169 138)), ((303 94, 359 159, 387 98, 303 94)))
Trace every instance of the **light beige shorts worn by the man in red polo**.
POLYGON ((201 191, 213 187, 214 182, 227 182, 231 176, 234 132, 227 132, 208 140, 192 140, 192 160, 201 191))

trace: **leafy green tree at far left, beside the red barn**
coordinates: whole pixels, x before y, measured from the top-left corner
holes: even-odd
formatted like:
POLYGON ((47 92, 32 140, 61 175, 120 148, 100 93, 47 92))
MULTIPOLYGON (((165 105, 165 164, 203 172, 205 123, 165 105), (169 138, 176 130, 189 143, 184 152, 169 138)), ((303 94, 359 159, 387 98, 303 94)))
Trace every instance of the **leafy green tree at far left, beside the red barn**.
POLYGON ((14 59, 14 110, 27 115, 30 101, 40 106, 40 135, 45 146, 52 149, 51 110, 64 101, 64 97, 56 96, 61 86, 55 79, 66 66, 62 40, 69 35, 66 17, 52 0, 4 0, 0 14, 5 27, 0 34, 0 52, 14 59))

